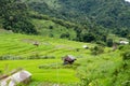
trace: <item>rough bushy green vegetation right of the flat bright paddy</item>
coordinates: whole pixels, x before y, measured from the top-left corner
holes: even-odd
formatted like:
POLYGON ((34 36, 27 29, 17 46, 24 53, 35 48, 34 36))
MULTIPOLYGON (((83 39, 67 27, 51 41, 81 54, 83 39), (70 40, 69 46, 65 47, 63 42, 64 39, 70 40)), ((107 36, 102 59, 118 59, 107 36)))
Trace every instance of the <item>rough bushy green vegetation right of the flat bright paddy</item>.
MULTIPOLYGON (((115 58, 115 56, 119 55, 117 53, 104 54, 80 60, 81 66, 78 68, 78 76, 81 80, 81 84, 79 86, 121 85, 120 80, 115 80, 118 84, 113 82, 113 78, 115 78, 113 72, 122 64, 120 57, 115 58)), ((125 75, 122 72, 121 74, 121 76, 125 75)))

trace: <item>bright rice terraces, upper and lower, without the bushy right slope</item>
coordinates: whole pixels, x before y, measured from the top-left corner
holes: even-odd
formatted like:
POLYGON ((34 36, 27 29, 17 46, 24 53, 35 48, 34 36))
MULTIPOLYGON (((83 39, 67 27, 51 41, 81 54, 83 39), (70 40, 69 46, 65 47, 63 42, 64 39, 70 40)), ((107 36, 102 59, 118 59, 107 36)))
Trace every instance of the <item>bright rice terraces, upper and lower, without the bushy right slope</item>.
MULTIPOLYGON (((68 54, 76 57, 83 57, 86 53, 90 53, 88 49, 83 51, 82 45, 84 44, 87 43, 72 42, 61 39, 57 40, 53 38, 10 33, 1 30, 0 56, 23 58, 28 58, 32 56, 48 56, 54 58, 39 60, 2 60, 0 61, 0 70, 6 73, 16 68, 24 68, 32 73, 32 80, 35 82, 78 83, 79 78, 76 76, 76 70, 72 68, 56 69, 56 64, 54 64, 54 68, 39 69, 39 66, 51 66, 53 63, 57 63, 57 67, 62 67, 63 60, 61 59, 61 57, 68 54), (39 43, 38 47, 34 45, 35 42, 39 43), (80 51, 77 52, 77 48, 80 51), (5 66, 8 66, 6 71, 4 69, 5 66)), ((93 44, 87 45, 92 46, 93 44)))

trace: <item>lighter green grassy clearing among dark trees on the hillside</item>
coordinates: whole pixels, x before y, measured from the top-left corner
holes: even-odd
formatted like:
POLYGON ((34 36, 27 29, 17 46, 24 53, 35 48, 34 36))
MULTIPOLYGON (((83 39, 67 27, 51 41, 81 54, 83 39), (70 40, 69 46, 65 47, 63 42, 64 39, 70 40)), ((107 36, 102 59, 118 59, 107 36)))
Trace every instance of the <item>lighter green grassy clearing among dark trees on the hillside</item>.
POLYGON ((52 20, 32 19, 32 23, 41 35, 60 38, 63 33, 69 33, 69 39, 73 40, 76 38, 76 31, 74 31, 73 28, 68 29, 64 26, 53 23, 52 20), (52 28, 50 29, 50 27, 52 28))

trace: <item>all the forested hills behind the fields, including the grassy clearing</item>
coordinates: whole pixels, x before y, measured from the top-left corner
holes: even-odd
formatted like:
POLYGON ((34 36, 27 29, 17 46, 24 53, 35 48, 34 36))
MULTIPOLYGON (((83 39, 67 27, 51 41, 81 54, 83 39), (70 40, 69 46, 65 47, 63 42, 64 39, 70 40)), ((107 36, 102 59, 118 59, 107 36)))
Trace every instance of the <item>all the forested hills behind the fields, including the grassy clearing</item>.
POLYGON ((82 42, 104 44, 110 28, 129 38, 129 15, 123 0, 0 0, 0 27, 82 42))

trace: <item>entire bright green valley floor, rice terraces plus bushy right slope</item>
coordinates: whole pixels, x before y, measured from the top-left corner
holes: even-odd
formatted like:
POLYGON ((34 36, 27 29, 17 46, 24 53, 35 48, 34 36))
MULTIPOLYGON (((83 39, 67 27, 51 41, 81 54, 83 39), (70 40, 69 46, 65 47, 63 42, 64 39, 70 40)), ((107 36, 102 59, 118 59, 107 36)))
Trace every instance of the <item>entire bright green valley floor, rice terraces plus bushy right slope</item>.
POLYGON ((112 52, 112 48, 106 47, 103 54, 93 56, 82 45, 90 48, 95 46, 91 43, 12 33, 0 29, 0 58, 22 58, 0 60, 0 71, 5 74, 17 68, 26 69, 32 73, 29 86, 126 86, 122 84, 129 81, 129 67, 122 69, 121 51, 112 52), (35 42, 39 46, 35 46, 35 42), (65 55, 75 56, 76 62, 63 66, 62 57, 65 55))

